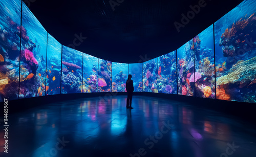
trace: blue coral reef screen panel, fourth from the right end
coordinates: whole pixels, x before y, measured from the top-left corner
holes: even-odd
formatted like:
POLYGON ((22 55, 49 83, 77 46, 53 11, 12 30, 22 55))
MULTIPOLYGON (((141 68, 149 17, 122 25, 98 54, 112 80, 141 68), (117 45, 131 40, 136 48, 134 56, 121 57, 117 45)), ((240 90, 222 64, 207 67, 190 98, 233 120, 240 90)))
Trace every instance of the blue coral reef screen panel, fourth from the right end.
POLYGON ((158 93, 177 94, 176 51, 158 57, 158 93))

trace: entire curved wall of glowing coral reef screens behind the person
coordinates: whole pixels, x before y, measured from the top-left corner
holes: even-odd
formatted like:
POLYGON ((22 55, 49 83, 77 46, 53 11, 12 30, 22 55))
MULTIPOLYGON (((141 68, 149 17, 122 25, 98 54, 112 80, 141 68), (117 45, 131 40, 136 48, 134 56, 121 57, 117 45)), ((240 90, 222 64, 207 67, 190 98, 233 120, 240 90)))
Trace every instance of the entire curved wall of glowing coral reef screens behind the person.
POLYGON ((135 92, 256 103, 255 10, 255 1, 244 1, 177 51, 126 64, 62 46, 24 3, 2 0, 0 101, 125 92, 131 74, 135 92))

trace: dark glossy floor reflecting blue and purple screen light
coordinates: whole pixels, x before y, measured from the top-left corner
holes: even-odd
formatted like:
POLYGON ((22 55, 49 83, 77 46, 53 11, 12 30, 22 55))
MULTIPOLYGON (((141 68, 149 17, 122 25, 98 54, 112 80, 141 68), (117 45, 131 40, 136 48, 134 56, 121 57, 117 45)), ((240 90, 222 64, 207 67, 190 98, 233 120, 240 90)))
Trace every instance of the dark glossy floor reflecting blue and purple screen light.
POLYGON ((84 98, 11 114, 0 156, 256 156, 255 126, 239 118, 160 98, 134 96, 132 110, 125 102, 84 98))

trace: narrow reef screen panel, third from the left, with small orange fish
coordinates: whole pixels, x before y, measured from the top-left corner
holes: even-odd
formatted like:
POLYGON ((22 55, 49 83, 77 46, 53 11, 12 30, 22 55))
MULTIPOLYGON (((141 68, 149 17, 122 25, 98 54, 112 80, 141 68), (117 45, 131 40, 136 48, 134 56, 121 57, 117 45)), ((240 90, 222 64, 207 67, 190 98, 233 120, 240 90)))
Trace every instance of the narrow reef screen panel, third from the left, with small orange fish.
MULTIPOLYGON (((46 95, 60 94, 61 81, 61 44, 48 34, 47 43, 47 70, 46 70, 46 95)), ((41 75, 41 74, 38 74, 41 75)))

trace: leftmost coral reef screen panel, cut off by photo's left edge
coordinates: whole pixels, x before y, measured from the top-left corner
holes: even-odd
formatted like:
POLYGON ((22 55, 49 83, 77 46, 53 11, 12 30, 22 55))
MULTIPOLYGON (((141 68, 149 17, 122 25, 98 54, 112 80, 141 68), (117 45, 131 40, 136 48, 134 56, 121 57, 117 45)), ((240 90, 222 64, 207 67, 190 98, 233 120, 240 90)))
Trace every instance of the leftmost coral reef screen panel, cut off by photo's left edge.
POLYGON ((18 99, 21 1, 0 1, 0 102, 18 99))

